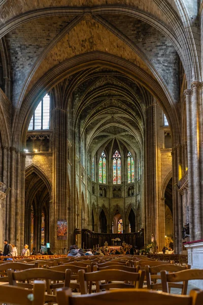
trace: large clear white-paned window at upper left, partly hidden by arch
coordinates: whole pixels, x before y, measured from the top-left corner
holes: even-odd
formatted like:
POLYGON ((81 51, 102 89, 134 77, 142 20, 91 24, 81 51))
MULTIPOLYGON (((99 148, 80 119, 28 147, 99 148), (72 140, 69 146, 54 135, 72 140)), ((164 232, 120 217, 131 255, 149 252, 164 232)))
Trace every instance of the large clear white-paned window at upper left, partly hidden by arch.
POLYGON ((48 94, 38 104, 28 127, 28 130, 43 129, 50 129, 50 96, 48 94))

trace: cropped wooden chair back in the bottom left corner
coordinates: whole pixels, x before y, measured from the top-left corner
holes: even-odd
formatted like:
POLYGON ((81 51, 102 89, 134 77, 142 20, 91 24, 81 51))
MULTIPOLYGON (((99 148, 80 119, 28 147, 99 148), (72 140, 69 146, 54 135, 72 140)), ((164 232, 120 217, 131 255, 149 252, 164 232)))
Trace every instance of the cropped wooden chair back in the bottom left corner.
POLYGON ((19 305, 44 305, 46 284, 34 281, 33 290, 0 285, 0 302, 19 305))

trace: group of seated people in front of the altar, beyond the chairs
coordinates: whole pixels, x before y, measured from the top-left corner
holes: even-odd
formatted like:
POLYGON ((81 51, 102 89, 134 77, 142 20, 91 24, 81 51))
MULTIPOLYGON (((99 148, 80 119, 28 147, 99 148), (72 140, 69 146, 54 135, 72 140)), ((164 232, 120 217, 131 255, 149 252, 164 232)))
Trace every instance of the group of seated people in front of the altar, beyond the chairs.
POLYGON ((101 255, 101 256, 104 256, 104 255, 118 255, 118 254, 130 254, 130 255, 134 255, 135 251, 133 249, 132 246, 130 246, 130 248, 126 247, 126 248, 123 248, 123 247, 120 247, 120 250, 118 249, 100 249, 99 247, 97 247, 97 249, 87 249, 86 251, 84 251, 82 248, 78 248, 77 245, 73 245, 70 247, 69 249, 69 252, 67 254, 67 256, 83 256, 83 255, 89 255, 89 256, 92 256, 92 255, 101 255))

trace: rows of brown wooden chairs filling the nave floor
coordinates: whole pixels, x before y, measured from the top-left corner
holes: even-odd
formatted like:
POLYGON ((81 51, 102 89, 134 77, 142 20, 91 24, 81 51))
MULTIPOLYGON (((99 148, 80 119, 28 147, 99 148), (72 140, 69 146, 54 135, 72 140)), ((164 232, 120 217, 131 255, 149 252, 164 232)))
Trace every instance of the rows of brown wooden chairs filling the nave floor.
POLYGON ((32 295, 30 298, 33 305, 38 285, 39 290, 44 289, 41 301, 50 304, 77 305, 83 302, 91 305, 95 302, 100 304, 101 301, 107 304, 111 301, 114 304, 116 299, 117 304, 126 304, 127 300, 133 300, 137 304, 137 297, 143 304, 147 303, 147 299, 148 303, 153 304, 153 298, 154 303, 164 301, 169 304, 170 300, 174 304, 203 304, 200 290, 192 291, 190 296, 186 296, 188 281, 202 280, 203 270, 190 269, 189 265, 156 261, 145 256, 62 257, 47 260, 25 258, 17 262, 0 262, 0 275, 1 282, 9 283, 1 285, 0 289, 15 287, 29 290, 28 295, 32 295), (39 279, 44 282, 35 282, 39 279), (168 294, 171 288, 180 288, 182 295, 168 294), (162 292, 153 293, 153 290, 162 292))

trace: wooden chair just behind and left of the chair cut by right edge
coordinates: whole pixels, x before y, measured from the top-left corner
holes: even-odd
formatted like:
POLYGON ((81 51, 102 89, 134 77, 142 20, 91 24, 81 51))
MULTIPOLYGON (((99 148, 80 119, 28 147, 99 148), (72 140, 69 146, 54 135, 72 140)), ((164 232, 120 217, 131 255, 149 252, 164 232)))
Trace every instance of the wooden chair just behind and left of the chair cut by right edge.
MULTIPOLYGON (((187 265, 185 267, 178 266, 178 265, 172 265, 172 264, 166 264, 166 265, 159 265, 159 266, 145 266, 146 271, 146 279, 147 279, 147 288, 148 289, 160 289, 162 290, 162 284, 157 283, 157 280, 161 279, 161 275, 157 275, 157 273, 160 273, 161 270, 165 270, 167 272, 177 272, 190 269, 190 265, 187 265), (153 282, 153 283, 152 283, 153 282)), ((168 283, 169 288, 180 288, 182 289, 182 294, 184 293, 183 289, 186 289, 187 292, 187 283, 183 284, 177 284, 177 283, 168 283)), ((168 289, 168 292, 170 292, 170 289, 168 289)))

